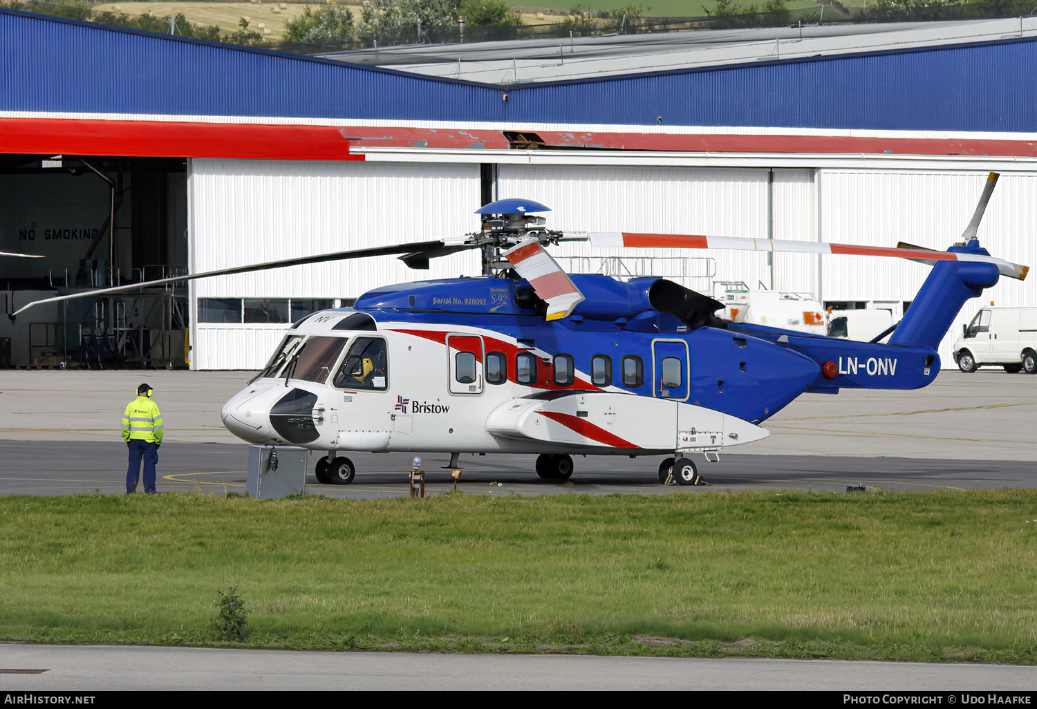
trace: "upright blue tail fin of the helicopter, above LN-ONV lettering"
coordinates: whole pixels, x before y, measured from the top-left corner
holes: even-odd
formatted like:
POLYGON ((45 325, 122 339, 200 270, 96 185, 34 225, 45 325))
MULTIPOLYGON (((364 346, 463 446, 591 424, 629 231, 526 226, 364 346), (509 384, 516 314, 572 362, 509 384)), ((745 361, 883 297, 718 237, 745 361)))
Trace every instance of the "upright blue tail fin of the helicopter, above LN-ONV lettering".
MULTIPOLYGON (((948 251, 990 255, 975 239, 948 251)), ((889 343, 935 349, 965 301, 981 295, 984 288, 998 282, 998 266, 993 263, 937 261, 889 343)))

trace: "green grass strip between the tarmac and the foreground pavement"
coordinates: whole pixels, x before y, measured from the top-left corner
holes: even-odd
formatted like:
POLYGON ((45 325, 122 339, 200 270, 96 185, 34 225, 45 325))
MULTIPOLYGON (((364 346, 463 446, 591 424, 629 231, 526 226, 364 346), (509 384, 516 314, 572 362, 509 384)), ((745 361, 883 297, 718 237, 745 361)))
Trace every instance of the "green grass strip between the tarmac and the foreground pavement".
POLYGON ((0 499, 0 640, 1037 661, 1037 491, 0 499), (224 643, 225 644, 225 643, 224 643))

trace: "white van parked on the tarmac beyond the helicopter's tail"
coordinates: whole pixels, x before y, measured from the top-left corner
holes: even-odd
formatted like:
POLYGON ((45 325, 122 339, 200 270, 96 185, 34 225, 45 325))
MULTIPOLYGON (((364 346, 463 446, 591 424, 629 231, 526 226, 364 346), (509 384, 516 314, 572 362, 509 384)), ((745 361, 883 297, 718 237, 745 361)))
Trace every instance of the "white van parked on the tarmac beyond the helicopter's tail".
POLYGON ((961 371, 1002 365, 1006 372, 1037 373, 1037 308, 983 308, 961 329, 954 343, 961 371))

